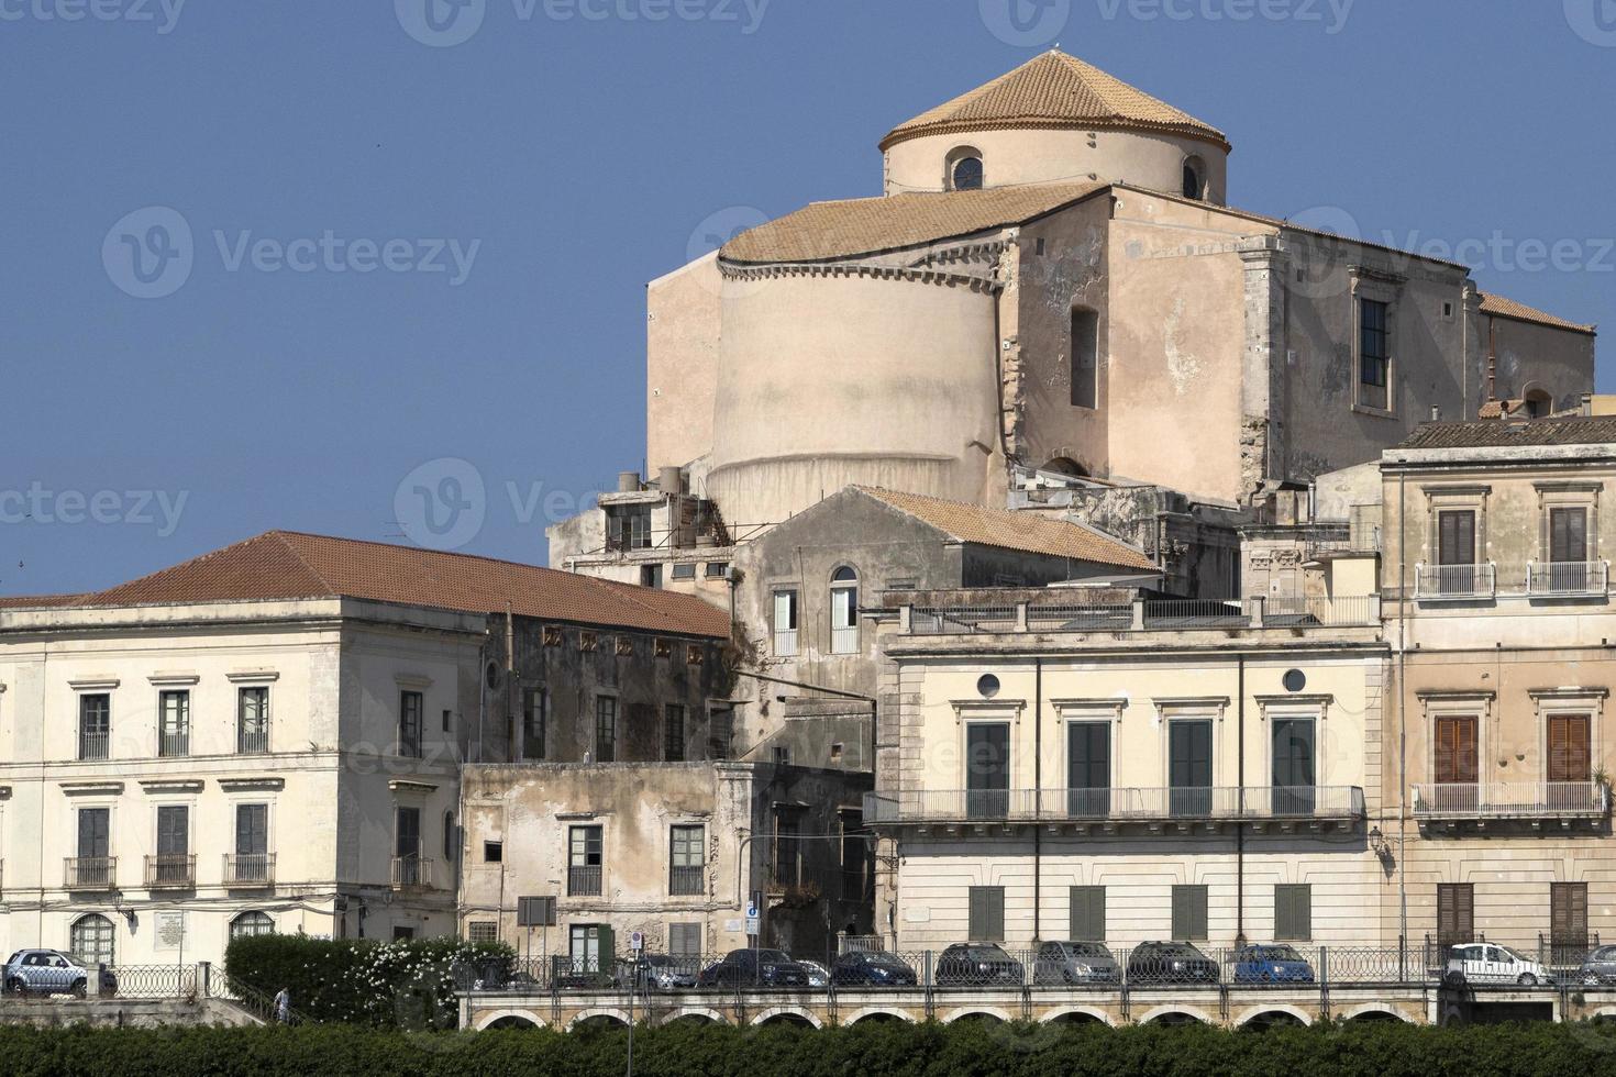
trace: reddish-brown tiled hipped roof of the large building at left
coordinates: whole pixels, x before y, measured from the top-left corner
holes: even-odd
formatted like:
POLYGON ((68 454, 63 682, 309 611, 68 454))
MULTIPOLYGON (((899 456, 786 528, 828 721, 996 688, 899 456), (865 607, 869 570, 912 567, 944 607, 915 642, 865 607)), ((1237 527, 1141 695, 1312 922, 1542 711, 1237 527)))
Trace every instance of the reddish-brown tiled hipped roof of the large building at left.
POLYGON ((354 597, 470 614, 672 635, 729 636, 729 615, 698 597, 490 557, 268 531, 162 572, 78 596, 73 606, 160 606, 354 597))

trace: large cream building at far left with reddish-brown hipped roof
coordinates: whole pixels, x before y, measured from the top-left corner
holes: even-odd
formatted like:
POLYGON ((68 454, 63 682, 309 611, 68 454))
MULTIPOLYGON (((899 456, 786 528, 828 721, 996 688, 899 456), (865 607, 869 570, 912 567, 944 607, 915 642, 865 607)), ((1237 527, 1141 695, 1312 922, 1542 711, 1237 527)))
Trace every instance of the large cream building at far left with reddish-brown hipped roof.
MULTIPOLYGON (((659 591, 281 531, 94 594, 5 599, 0 945, 173 966, 220 962, 241 932, 456 933, 461 767, 532 748, 532 722, 512 740, 491 719, 507 612, 574 641, 727 627, 659 591)), ((625 743, 638 689, 609 689, 625 743)))

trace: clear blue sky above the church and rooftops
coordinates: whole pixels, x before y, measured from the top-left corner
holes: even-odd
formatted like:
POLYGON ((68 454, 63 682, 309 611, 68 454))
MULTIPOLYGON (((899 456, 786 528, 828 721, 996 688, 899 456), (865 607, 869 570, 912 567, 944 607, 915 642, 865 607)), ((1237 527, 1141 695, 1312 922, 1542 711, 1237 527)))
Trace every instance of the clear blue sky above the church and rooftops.
POLYGON ((1055 40, 1227 131, 1235 205, 1616 325, 1616 0, 423 3, 0 0, 0 594, 427 497, 541 560, 640 465, 645 283, 1055 40))

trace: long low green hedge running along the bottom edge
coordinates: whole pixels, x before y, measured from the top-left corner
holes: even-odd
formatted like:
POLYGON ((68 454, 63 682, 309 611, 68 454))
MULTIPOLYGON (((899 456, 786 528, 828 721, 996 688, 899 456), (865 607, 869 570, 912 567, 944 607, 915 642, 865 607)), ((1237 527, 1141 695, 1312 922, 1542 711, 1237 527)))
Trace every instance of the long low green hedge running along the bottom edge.
MULTIPOLYGON (((619 1077, 621 1029, 407 1033, 359 1025, 260 1029, 0 1027, 0 1069, 29 1077, 402 1074, 619 1077)), ((813 1032, 674 1024, 635 1033, 645 1077, 1593 1077, 1616 1072, 1600 1025, 908 1025, 813 1032)))

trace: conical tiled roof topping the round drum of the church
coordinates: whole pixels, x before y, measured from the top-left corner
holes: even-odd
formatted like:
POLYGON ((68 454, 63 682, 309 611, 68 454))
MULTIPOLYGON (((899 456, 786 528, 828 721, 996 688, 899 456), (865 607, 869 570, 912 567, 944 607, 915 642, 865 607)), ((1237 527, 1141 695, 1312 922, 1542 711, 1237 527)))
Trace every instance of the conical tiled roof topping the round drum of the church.
POLYGON ((881 149, 928 134, 995 128, 1122 128, 1183 134, 1230 149, 1217 128, 1055 50, 894 128, 881 149))

